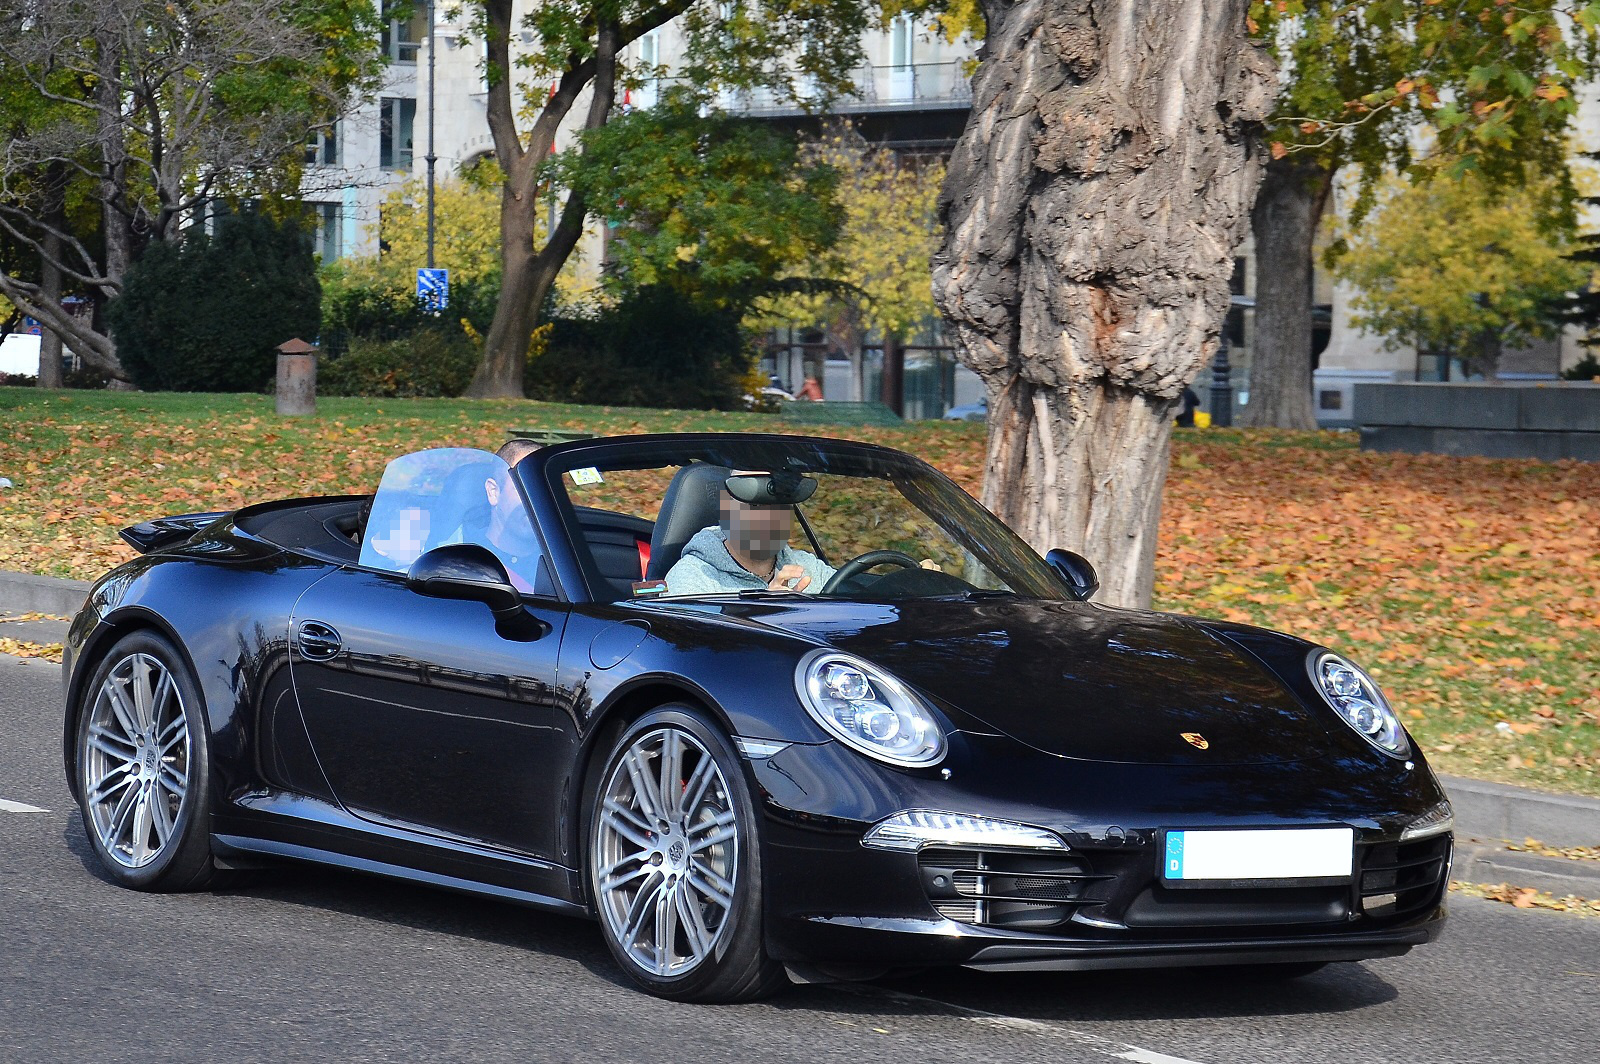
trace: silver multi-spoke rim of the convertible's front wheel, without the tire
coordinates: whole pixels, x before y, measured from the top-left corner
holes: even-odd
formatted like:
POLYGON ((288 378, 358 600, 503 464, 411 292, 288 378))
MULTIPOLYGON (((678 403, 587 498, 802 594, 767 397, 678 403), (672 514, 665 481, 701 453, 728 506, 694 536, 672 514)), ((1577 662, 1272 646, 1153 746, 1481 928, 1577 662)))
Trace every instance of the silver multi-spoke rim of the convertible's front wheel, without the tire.
POLYGON ((600 918, 656 976, 698 968, 728 930, 739 822, 717 758, 688 731, 653 728, 600 790, 595 835, 600 918))

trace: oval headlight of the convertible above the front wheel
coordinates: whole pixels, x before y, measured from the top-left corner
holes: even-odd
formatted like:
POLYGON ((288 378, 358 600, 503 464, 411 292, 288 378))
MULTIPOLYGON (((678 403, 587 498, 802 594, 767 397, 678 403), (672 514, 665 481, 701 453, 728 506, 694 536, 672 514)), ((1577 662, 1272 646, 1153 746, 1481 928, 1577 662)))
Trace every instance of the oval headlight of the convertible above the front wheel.
POLYGON ((907 768, 944 757, 944 731, 923 701, 861 658, 814 650, 800 659, 795 688, 824 730, 862 754, 907 768))

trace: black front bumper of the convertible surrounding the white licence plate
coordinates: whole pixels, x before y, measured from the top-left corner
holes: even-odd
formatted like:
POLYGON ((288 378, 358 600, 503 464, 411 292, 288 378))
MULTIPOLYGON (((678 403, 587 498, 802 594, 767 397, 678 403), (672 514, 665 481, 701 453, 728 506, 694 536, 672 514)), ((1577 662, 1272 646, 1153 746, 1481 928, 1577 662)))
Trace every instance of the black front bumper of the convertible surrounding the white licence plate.
MULTIPOLYGON (((778 960, 990 970, 1368 960, 1429 942, 1445 923, 1451 837, 1402 843, 1394 818, 1376 822, 1339 816, 1341 805, 1362 808, 1360 797, 1328 795, 1325 776, 1307 784, 1322 789, 1328 803, 1312 810, 1286 789, 1291 766, 1251 770, 1280 774, 1280 786, 1264 792, 1280 798, 1272 819, 1250 800, 1240 800, 1229 816, 1206 813, 1214 808, 1213 787, 1190 779, 1192 794, 1186 795, 1179 773, 1155 773, 1165 776, 1165 794, 1141 789, 1134 779, 1123 781, 1134 786, 1115 790, 1157 798, 1163 808, 1141 811, 1125 798, 1117 805, 1117 822, 1107 824, 1104 810, 1067 816, 1061 810, 1074 803, 1066 795, 1050 797, 1035 787, 1026 789, 1038 797, 1024 808, 955 794, 931 773, 878 771, 859 762, 848 752, 806 747, 754 765, 766 805, 766 939, 778 960), (1190 797, 1200 811, 1184 808, 1190 797), (861 845, 870 822, 904 808, 960 810, 1035 824, 1066 838, 1069 850, 950 846, 906 853, 861 845), (1354 875, 1314 885, 1206 888, 1173 886, 1160 878, 1163 827, 1251 821, 1349 822, 1357 830, 1354 875)), ((1149 768, 1110 771, 1141 776, 1149 768)), ((1230 773, 1250 776, 1243 770, 1230 773)), ((1029 773, 1018 776, 1026 781, 1029 773)), ((1371 782, 1360 781, 1368 808, 1371 782)), ((1400 819, 1419 816, 1442 797, 1426 771, 1400 782, 1408 790, 1398 795, 1400 819)))

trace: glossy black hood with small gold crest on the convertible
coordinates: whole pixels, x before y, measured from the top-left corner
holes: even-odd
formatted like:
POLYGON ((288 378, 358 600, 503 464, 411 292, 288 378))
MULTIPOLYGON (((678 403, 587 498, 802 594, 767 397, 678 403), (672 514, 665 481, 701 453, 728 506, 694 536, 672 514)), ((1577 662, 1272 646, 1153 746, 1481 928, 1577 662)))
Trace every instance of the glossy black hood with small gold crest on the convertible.
POLYGON ((1003 598, 746 600, 717 611, 859 654, 1061 757, 1259 765, 1333 746, 1326 710, 1306 707, 1235 643, 1171 614, 1003 598))

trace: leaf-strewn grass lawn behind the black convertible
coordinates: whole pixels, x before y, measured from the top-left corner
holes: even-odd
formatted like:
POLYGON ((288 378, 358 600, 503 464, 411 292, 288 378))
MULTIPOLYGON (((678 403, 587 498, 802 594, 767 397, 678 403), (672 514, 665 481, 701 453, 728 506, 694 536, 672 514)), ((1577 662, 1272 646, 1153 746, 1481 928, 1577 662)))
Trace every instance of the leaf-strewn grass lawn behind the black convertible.
MULTIPOLYGON (((526 402, 0 389, 0 568, 90 579, 115 530, 294 494, 370 491, 395 454, 494 448, 509 426, 782 429, 762 414, 526 402)), ((978 493, 974 424, 846 429, 978 493)), ((1181 430, 1157 605, 1350 654, 1443 771, 1600 795, 1600 464, 1363 454, 1347 434, 1181 430)))

